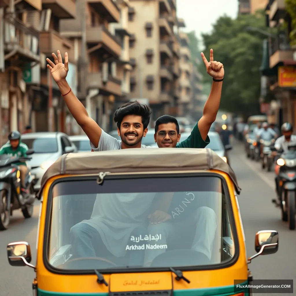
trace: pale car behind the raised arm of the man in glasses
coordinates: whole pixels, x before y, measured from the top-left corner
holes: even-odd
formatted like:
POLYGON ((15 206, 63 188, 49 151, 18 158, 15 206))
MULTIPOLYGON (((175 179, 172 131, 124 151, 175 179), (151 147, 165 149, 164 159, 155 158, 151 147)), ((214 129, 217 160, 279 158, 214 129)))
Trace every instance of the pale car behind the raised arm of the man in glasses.
MULTIPOLYGON (((190 133, 181 133, 181 138, 179 143, 186 140, 190 136, 190 133)), ((209 131, 208 136, 210 138, 210 144, 206 148, 212 149, 216 154, 218 154, 226 163, 229 164, 229 156, 227 151, 232 149, 231 145, 223 146, 219 134, 215 131, 209 131)))

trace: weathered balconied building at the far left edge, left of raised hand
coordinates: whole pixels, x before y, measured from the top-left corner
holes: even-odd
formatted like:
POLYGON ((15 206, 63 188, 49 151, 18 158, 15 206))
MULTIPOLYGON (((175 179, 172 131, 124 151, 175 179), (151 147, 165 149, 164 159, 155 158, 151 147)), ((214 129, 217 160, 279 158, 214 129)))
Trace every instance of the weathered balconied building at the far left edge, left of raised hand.
POLYGON ((41 9, 41 0, 1 1, 0 145, 11 130, 23 131, 29 122, 29 89, 23 72, 40 62, 39 31, 33 16, 41 9))

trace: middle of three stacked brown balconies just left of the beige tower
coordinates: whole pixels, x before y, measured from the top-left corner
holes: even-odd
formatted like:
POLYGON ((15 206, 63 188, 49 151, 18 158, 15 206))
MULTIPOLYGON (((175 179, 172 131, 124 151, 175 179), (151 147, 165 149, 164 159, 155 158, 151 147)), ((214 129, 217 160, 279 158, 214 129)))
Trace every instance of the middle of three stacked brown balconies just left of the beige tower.
POLYGON ((120 57, 121 46, 105 26, 86 28, 86 42, 90 46, 89 53, 97 51, 99 54, 109 54, 113 57, 120 57))

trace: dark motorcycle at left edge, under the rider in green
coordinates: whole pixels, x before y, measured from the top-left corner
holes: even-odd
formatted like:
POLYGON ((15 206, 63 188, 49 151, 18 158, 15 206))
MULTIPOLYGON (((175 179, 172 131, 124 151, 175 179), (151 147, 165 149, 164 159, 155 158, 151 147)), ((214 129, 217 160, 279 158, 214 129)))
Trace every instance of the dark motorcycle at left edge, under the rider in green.
MULTIPOLYGON (((27 155, 33 154, 29 149, 27 155)), ((33 187, 34 177, 30 170, 25 177, 26 194, 21 193, 20 170, 15 163, 30 160, 30 157, 11 157, 0 155, 0 230, 7 229, 12 211, 21 209, 25 218, 33 215, 35 193, 33 187)))

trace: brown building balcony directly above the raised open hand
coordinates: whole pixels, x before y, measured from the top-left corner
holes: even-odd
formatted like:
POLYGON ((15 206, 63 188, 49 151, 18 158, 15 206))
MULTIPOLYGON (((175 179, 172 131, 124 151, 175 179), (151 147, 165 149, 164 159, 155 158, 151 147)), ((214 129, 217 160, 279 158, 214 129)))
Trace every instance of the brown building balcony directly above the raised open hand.
POLYGON ((59 49, 62 54, 68 53, 69 61, 74 61, 74 49, 70 40, 62 37, 56 31, 44 31, 40 32, 40 51, 51 57, 52 52, 56 52, 59 49))

